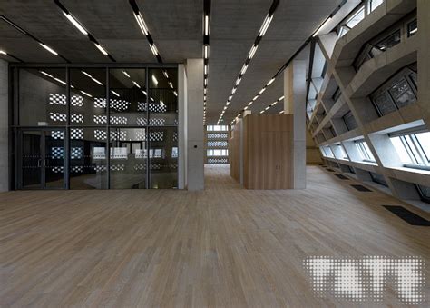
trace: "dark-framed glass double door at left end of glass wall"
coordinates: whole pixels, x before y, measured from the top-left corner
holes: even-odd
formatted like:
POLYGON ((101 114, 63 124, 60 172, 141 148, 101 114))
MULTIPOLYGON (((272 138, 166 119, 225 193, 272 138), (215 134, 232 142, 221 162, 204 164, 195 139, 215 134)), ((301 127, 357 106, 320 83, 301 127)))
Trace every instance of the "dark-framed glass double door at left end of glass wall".
POLYGON ((21 131, 21 189, 64 189, 64 133, 64 129, 21 131))

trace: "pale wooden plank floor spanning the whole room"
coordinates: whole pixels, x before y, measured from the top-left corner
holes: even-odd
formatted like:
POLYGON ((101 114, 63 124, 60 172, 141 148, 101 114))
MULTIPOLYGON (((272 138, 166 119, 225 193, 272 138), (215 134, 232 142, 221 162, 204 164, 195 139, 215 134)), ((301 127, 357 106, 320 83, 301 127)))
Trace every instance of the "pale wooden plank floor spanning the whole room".
MULTIPOLYGON (((207 189, 197 193, 0 194, 0 304, 357 307, 316 298, 303 259, 429 260, 430 228, 381 206, 401 203, 360 193, 319 166, 308 167, 303 191, 247 191, 228 174, 206 167, 207 189)), ((383 303, 400 306, 392 291, 383 303)))

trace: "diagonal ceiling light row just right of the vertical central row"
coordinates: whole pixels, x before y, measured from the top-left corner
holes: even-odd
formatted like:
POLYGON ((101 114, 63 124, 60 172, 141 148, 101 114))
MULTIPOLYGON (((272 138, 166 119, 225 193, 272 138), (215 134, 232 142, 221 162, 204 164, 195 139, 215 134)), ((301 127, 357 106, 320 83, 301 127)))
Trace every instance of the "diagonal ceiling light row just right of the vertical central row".
MULTIPOLYGON (((261 41, 262 37, 266 34, 266 31, 269 28, 269 25, 273 19, 273 14, 275 13, 277 7, 279 5, 279 0, 273 0, 272 5, 269 8, 269 13, 268 15, 266 15, 266 18, 264 18, 263 24, 261 25, 261 27, 259 28, 259 35, 257 35, 257 38, 254 41, 254 44, 251 46, 251 49, 249 50, 249 54, 247 56, 247 59, 245 60, 245 63, 243 64, 238 79, 236 79, 236 82, 233 86, 233 89, 231 90, 230 96, 227 99, 227 102, 224 106, 224 109, 222 110, 221 114, 220 114, 220 118, 218 120, 217 125, 220 124, 220 122, 222 121, 222 117, 225 114, 226 110, 229 108, 230 102, 233 99, 233 95, 236 93, 238 86, 242 80, 243 75, 245 75, 245 73, 248 70, 249 67, 249 63, 251 61, 251 59, 253 58, 253 56, 255 55, 255 53, 257 52, 257 49, 259 48, 259 42, 261 41)), ((271 84, 273 81, 270 81, 269 84, 271 84)), ((269 85, 268 84, 268 85, 269 85)), ((259 94, 262 94, 264 92, 264 90, 266 90, 265 88, 260 91, 259 94)), ((257 94, 256 97, 254 97, 254 99, 257 99, 259 97, 259 94, 257 94)))

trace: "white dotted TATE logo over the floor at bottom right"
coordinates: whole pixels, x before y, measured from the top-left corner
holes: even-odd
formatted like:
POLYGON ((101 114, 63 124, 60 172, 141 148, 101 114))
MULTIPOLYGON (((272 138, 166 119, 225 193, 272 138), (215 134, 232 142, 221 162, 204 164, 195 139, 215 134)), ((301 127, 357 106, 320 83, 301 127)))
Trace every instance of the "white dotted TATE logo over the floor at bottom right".
POLYGON ((313 256, 303 265, 318 297, 332 294, 351 301, 382 301, 387 283, 394 283, 397 298, 416 304, 425 300, 425 262, 414 256, 393 258, 333 258, 313 256))

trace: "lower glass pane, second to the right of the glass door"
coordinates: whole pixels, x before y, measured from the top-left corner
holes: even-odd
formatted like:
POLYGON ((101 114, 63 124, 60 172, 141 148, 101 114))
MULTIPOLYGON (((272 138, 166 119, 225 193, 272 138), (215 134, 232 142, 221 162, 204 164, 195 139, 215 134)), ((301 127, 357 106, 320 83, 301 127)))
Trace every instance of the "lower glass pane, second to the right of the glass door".
MULTIPOLYGON (((146 128, 111 128, 111 188, 146 188, 146 128)), ((151 156, 151 154, 150 154, 151 156)))

